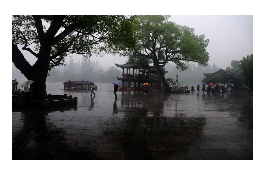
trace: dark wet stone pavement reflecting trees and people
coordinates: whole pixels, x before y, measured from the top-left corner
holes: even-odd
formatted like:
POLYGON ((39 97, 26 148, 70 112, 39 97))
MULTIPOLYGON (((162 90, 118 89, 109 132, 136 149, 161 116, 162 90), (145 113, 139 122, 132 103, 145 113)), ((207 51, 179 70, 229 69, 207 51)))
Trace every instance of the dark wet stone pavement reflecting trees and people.
POLYGON ((252 94, 96 91, 12 109, 12 159, 252 160, 252 94))

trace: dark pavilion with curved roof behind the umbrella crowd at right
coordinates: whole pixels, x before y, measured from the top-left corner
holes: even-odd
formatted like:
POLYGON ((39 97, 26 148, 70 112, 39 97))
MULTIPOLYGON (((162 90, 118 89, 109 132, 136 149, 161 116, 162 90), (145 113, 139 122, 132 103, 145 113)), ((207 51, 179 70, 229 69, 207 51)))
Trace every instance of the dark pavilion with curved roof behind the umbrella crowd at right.
MULTIPOLYGON (((204 73, 204 72, 202 72, 204 73)), ((204 73, 204 76, 205 76, 206 73, 204 73)), ((235 85, 236 88, 243 88, 243 84, 241 82, 241 78, 243 77, 243 75, 237 75, 237 74, 234 74, 232 72, 230 72, 229 70, 223 70, 223 69, 220 69, 214 73, 211 73, 211 74, 219 74, 219 75, 222 75, 224 80, 226 80, 226 83, 228 84, 228 88, 230 88, 230 84, 232 83, 233 85, 235 85)), ((219 82, 216 82, 216 83, 219 83, 219 82)))

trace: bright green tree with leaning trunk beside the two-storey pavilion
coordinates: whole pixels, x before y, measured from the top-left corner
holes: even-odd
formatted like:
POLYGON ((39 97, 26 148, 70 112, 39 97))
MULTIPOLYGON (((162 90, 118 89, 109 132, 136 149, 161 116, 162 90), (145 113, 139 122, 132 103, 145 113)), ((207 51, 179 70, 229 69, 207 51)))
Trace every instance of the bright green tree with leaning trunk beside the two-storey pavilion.
POLYGON ((209 39, 195 35, 193 28, 177 25, 168 18, 170 16, 138 16, 137 44, 120 54, 129 56, 129 62, 154 65, 165 90, 171 91, 161 68, 170 61, 182 71, 188 68, 185 62, 208 65, 209 39))

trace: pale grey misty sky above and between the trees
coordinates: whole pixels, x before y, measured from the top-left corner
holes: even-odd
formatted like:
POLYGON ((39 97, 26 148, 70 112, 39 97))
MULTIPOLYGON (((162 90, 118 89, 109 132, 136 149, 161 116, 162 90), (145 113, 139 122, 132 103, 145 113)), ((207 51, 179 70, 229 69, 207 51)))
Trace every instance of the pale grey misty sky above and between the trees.
MULTIPOLYGON (((208 47, 209 65, 215 63, 223 69, 230 66, 232 60, 241 60, 253 53, 253 16, 171 16, 169 19, 180 25, 186 25, 195 29, 196 35, 205 35, 205 39, 210 39, 208 47)), ((36 59, 28 51, 20 49, 31 64, 36 59)), ((82 56, 72 54, 74 62, 82 62, 82 56)), ((98 61, 103 67, 115 66, 114 63, 124 64, 127 57, 118 55, 105 55, 103 57, 92 55, 91 61, 98 61)), ((66 57, 66 62, 70 62, 70 57, 66 57)))

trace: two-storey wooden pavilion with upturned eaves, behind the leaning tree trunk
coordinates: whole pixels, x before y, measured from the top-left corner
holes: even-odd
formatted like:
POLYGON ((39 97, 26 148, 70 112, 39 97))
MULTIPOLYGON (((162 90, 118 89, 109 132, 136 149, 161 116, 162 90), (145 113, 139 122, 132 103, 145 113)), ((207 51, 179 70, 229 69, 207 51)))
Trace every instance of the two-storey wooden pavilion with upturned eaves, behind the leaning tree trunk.
MULTIPOLYGON (((136 63, 129 63, 127 61, 124 65, 118 65, 115 63, 115 66, 121 67, 123 70, 121 78, 117 76, 117 79, 122 82, 122 90, 142 91, 144 90, 144 83, 149 83, 149 87, 151 87, 152 90, 164 89, 163 83, 161 82, 154 66, 148 65, 141 69, 136 63), (124 73, 124 69, 127 69, 127 73, 124 73), (130 73, 131 69, 132 73, 130 73)), ((165 73, 167 72, 168 71, 165 71, 165 73)))

